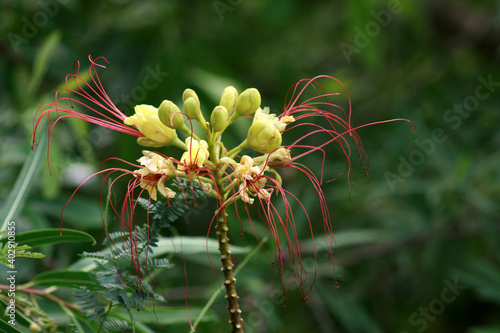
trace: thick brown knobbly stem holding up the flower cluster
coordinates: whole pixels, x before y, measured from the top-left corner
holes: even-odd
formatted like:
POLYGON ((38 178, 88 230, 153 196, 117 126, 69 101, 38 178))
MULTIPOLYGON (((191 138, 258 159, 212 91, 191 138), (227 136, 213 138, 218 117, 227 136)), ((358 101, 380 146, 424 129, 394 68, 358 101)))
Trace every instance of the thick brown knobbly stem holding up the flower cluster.
POLYGON ((231 250, 229 249, 229 238, 227 237, 228 227, 226 224, 226 207, 220 206, 217 213, 217 226, 216 234, 219 241, 220 260, 222 262, 222 272, 224 273, 224 286, 226 287, 227 308, 229 310, 230 320, 232 326, 232 333, 242 333, 243 319, 241 318, 241 310, 238 305, 238 294, 236 293, 236 278, 234 277, 233 267, 231 261, 231 250))

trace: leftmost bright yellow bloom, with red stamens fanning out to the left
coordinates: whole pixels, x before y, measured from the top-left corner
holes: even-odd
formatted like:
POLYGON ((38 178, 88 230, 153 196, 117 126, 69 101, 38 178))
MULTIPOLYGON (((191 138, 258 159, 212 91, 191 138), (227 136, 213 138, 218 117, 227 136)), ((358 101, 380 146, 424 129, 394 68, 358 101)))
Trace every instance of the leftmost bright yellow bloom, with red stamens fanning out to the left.
POLYGON ((137 105, 135 114, 124 119, 125 125, 135 126, 144 137, 137 138, 137 143, 146 147, 163 147, 177 139, 175 130, 165 126, 158 118, 158 109, 152 105, 137 105))

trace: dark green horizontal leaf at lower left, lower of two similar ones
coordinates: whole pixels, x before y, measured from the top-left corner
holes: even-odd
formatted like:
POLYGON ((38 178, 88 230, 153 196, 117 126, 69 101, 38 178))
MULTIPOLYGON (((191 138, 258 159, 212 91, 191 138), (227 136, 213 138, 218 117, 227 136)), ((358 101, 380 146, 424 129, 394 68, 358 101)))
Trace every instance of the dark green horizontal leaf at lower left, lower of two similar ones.
POLYGON ((67 288, 79 288, 86 286, 89 289, 95 287, 90 273, 83 271, 55 270, 44 272, 35 276, 32 283, 38 286, 57 286, 67 288))

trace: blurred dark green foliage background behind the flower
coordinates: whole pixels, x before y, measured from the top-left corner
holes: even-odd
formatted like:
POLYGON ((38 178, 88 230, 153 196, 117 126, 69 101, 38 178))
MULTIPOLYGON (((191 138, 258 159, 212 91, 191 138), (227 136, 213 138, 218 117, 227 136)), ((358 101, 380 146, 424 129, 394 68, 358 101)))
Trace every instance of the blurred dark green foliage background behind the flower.
MULTIPOLYGON (((89 54, 110 62, 100 77, 126 114, 136 104, 180 100, 187 87, 210 109, 228 84, 258 88, 263 104, 281 112, 293 83, 331 75, 349 90, 354 125, 408 118, 417 130, 392 123, 359 131, 369 177, 353 160, 351 191, 345 177, 323 187, 340 288, 320 246, 311 304, 291 299, 284 307, 277 269, 261 252, 238 279, 246 332, 500 332, 499 1, 3 0, 0 10, 2 202, 32 154, 36 110, 53 100, 75 60, 87 70, 89 54)), ((345 95, 335 102, 346 106, 345 95)), ((58 227, 78 177, 110 156, 136 159, 134 141, 60 123, 53 176, 43 159, 18 227, 58 227)), ((335 149, 327 158, 331 179, 344 161, 335 149)), ((313 189, 295 179, 285 176, 286 188, 303 196, 321 243, 313 189)), ((102 239, 99 185, 79 192, 64 223, 102 239)), ((206 236, 211 212, 208 205, 177 228, 206 236)), ((312 258, 307 225, 297 225, 303 254, 312 258)), ((256 245, 248 226, 242 237, 236 223, 233 230, 233 244, 256 245)), ((48 248, 43 263, 23 268, 23 279, 96 250, 89 247, 48 248)), ((156 282, 166 306, 184 304, 182 260, 174 263, 156 282)), ((189 303, 203 305, 217 279, 206 254, 187 257, 186 265, 189 303)), ((227 331, 225 306, 220 297, 215 319, 198 331, 227 331)), ((188 325, 164 329, 187 332, 188 325)))

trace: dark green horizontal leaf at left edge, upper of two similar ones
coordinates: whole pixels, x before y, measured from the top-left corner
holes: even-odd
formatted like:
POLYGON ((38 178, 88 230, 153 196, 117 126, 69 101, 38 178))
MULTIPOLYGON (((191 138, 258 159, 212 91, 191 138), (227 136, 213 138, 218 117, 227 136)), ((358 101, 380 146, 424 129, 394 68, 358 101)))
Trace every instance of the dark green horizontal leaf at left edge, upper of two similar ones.
MULTIPOLYGON (((3 238, 0 242, 5 243, 6 240, 6 238, 3 238)), ((96 243, 94 237, 91 235, 72 229, 41 229, 16 235, 16 243, 26 244, 31 247, 55 243, 82 242, 92 242, 93 245, 96 243)))

